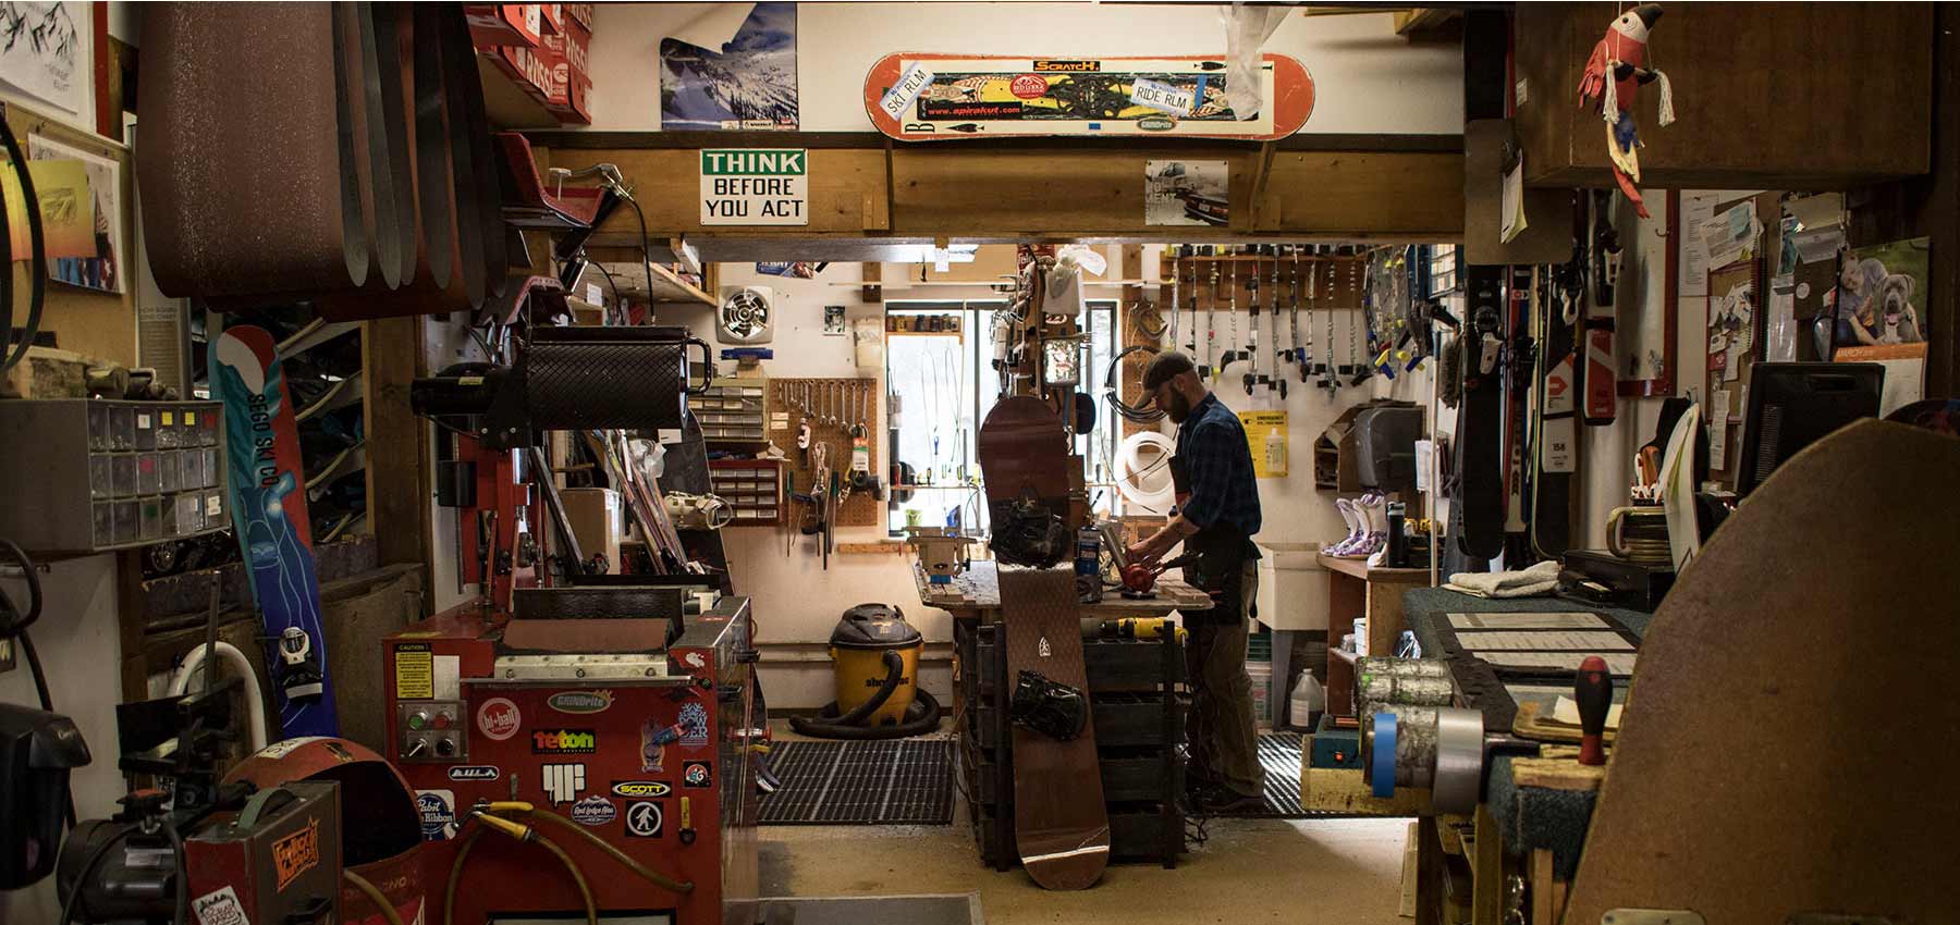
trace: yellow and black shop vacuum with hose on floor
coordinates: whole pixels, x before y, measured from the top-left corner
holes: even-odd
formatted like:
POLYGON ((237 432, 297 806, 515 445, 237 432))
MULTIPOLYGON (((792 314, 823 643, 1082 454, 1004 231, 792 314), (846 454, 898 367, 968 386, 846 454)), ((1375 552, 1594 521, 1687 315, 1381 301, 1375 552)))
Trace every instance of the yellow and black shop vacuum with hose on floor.
POLYGON ((858 604, 831 631, 837 700, 790 727, 821 739, 904 739, 939 727, 939 702, 919 690, 925 637, 888 604, 858 604))

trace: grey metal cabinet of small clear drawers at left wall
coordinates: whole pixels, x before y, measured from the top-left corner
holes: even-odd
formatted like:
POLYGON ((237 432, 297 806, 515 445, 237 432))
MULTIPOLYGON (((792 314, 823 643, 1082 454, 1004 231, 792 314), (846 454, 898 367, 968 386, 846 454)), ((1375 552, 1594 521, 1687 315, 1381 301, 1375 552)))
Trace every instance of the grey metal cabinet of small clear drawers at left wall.
POLYGON ((221 402, 0 402, 0 537, 96 553, 231 525, 221 402))

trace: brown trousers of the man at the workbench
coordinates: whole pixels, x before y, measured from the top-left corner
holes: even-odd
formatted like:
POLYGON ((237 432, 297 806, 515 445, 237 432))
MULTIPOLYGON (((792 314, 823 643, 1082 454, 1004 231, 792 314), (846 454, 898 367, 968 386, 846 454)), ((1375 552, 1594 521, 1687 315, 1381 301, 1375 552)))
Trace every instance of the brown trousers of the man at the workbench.
POLYGON ((1260 796, 1266 772, 1258 764, 1258 727, 1252 723, 1252 678, 1245 672, 1245 635, 1258 590, 1258 560, 1247 560, 1239 613, 1229 621, 1200 617, 1190 625, 1184 666, 1192 684, 1192 711, 1184 717, 1194 772, 1241 796, 1260 796))

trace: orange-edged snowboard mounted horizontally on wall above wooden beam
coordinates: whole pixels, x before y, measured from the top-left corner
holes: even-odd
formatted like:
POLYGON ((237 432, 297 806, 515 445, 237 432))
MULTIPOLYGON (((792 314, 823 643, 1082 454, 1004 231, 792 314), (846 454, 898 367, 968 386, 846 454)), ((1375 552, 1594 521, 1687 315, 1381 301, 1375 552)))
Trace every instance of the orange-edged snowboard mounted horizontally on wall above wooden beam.
POLYGON ((1172 135, 1276 141, 1313 114, 1313 76, 1260 55, 1264 106, 1233 112, 1225 61, 1184 57, 886 55, 864 76, 864 112, 900 141, 1029 135, 1172 135))

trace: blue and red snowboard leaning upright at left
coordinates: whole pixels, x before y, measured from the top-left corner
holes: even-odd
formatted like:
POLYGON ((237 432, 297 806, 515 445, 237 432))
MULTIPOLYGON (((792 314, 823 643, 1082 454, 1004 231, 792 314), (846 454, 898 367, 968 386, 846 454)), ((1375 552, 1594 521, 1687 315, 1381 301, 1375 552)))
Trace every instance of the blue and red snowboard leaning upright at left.
POLYGON ((212 345, 212 388, 225 406, 231 525, 265 625, 280 733, 339 735, 300 433, 272 335, 225 327, 212 345))

